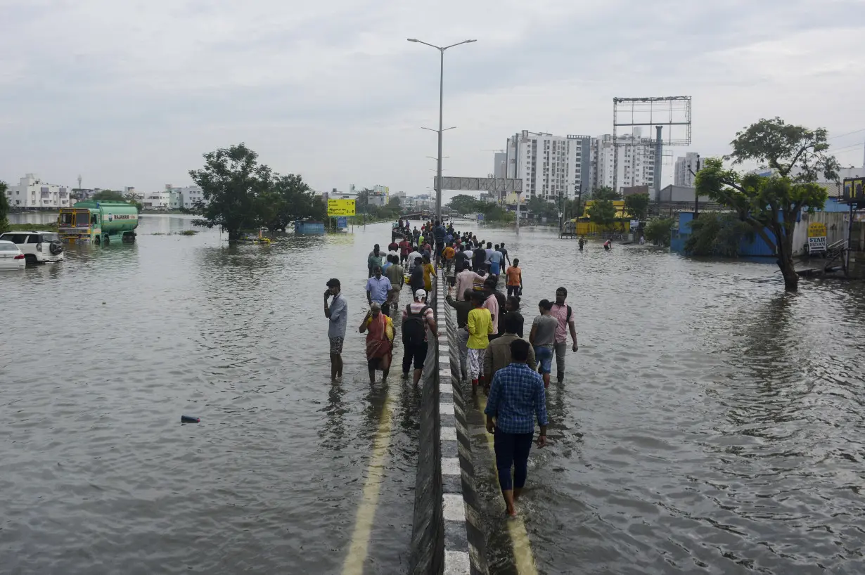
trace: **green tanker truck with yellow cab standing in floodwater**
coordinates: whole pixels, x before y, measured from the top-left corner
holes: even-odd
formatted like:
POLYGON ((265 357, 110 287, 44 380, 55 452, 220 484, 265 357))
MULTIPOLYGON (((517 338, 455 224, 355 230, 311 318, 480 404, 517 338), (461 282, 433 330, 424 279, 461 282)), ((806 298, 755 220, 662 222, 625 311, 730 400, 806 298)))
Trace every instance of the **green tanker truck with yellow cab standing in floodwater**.
POLYGON ((136 227, 138 208, 125 201, 79 201, 71 208, 61 208, 57 216, 57 231, 69 243, 132 243, 136 227))

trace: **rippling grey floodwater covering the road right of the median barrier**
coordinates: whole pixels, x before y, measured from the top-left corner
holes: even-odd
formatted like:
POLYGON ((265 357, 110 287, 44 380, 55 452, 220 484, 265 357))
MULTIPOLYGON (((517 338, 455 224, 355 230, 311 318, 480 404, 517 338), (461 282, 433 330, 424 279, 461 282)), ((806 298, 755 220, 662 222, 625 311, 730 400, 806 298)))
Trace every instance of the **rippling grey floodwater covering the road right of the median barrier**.
MULTIPOLYGON (((865 286, 785 294, 774 265, 547 230, 508 244, 527 331, 563 285, 580 342, 520 508, 540 572, 865 572, 865 286)), ((516 572, 485 441, 490 570, 516 572)))

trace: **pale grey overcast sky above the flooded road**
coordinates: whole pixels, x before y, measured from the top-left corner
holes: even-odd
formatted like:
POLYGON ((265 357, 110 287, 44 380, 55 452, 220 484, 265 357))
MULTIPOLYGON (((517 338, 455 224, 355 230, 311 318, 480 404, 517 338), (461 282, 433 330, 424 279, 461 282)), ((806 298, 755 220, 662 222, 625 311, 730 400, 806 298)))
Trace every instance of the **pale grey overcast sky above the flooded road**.
POLYGON ((703 156, 780 116, 863 162, 865 0, 0 0, 0 179, 189 185, 246 142, 318 190, 428 191, 439 53, 409 37, 477 39, 445 54, 445 176, 610 133, 616 96, 692 96, 703 156))

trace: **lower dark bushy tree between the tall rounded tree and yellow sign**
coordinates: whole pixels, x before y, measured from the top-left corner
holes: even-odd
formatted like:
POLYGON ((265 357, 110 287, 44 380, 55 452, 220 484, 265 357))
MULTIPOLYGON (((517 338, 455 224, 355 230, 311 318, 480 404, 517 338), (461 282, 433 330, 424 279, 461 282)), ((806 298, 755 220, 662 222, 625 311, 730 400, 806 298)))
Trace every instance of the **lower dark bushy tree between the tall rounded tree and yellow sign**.
POLYGON ((265 226, 271 232, 285 232, 295 220, 324 220, 327 208, 301 176, 274 174, 271 185, 261 195, 265 226))

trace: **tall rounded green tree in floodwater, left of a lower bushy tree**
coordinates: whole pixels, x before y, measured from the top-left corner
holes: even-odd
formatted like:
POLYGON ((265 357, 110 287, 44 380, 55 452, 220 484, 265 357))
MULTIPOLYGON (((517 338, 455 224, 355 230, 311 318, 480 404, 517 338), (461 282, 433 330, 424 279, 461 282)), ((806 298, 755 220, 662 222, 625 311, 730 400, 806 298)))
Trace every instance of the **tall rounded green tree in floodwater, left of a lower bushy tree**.
POLYGON ((204 167, 189 170, 205 200, 195 207, 203 216, 193 220, 195 226, 219 226, 232 241, 266 223, 271 212, 263 204, 272 198, 272 171, 258 157, 241 143, 204 154, 204 167))

